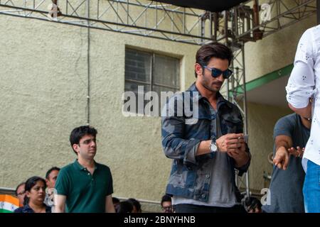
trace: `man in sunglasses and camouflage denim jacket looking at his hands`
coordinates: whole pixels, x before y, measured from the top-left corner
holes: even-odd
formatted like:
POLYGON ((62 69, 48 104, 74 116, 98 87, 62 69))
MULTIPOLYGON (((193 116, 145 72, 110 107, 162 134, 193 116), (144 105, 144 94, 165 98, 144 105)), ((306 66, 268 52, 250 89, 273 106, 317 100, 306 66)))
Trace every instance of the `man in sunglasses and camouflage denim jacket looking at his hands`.
POLYGON ((232 74, 232 57, 225 45, 203 45, 196 53, 196 83, 164 106, 162 145, 173 159, 166 193, 173 195, 176 212, 243 211, 235 169, 239 175, 247 171, 251 155, 240 110, 219 93, 232 74))

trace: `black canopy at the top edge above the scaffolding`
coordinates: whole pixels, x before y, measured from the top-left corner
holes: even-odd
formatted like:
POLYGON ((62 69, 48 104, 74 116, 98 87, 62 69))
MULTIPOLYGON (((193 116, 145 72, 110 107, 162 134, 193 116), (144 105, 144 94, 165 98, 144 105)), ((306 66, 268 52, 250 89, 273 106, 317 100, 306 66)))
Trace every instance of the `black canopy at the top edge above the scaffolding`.
POLYGON ((183 6, 187 8, 203 9, 211 12, 220 12, 237 6, 247 0, 156 0, 159 2, 183 6))

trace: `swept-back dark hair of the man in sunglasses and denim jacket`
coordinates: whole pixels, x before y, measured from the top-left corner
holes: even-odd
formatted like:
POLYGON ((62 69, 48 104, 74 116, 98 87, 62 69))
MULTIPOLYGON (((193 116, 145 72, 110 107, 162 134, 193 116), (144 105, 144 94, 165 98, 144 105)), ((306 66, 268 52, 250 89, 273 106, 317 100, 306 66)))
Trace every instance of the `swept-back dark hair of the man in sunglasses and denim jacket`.
MULTIPOLYGON (((201 46, 196 53, 196 63, 203 66, 207 66, 211 57, 217 57, 222 60, 228 60, 229 65, 233 60, 233 52, 226 45, 221 43, 210 43, 201 46)), ((195 72, 196 77, 198 76, 195 72)))

